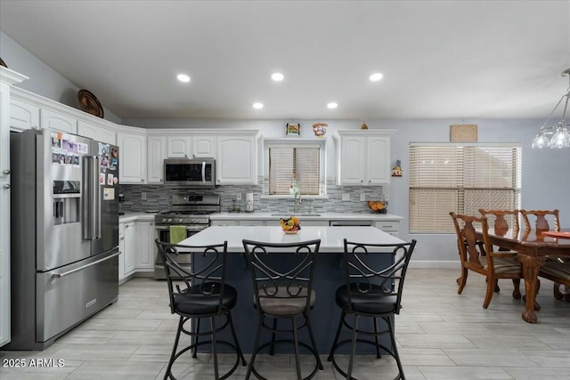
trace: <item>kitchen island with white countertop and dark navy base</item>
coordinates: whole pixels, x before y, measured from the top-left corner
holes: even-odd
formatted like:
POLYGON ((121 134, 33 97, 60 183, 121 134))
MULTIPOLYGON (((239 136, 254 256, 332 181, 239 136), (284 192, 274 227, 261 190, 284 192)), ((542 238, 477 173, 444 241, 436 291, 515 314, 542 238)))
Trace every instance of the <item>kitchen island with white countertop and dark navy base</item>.
MULTIPOLYGON (((253 307, 253 287, 241 240, 291 243, 321 239, 314 278, 316 302, 310 315, 318 350, 321 354, 327 354, 334 339, 338 318, 340 318, 340 309, 335 303, 335 291, 345 281, 342 266, 343 240, 345 238, 349 241, 362 243, 399 244, 404 242, 402 239, 374 227, 301 226, 301 230, 297 234, 285 234, 281 227, 212 226, 188 239, 184 239, 180 244, 210 245, 221 243, 224 240, 228 242, 227 283, 238 290, 238 302, 232 311, 232 318, 237 329, 241 349, 244 352, 251 352, 255 338, 257 314, 253 307)), ((279 253, 276 255, 280 255, 280 260, 286 260, 287 255, 291 254, 279 253)), ((197 265, 200 264, 199 255, 196 255, 194 260, 197 265)), ((383 265, 388 266, 394 262, 394 257, 393 255, 381 255, 379 260, 383 265)), ((228 332, 224 331, 224 333, 228 332)), ((229 336, 224 336, 224 338, 227 339, 229 336)), ((307 339, 307 337, 302 334, 301 339, 307 339)), ((287 347, 278 348, 286 349, 287 347)), ((362 350, 364 349, 368 349, 368 347, 362 347, 362 350)))

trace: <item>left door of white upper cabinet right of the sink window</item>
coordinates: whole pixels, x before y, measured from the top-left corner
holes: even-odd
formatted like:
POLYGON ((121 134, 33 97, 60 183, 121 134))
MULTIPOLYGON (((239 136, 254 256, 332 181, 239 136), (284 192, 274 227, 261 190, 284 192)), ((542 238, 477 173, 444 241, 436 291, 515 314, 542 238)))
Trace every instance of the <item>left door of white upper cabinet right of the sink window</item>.
POLYGON ((366 140, 362 136, 343 136, 340 142, 340 184, 364 184, 366 140))

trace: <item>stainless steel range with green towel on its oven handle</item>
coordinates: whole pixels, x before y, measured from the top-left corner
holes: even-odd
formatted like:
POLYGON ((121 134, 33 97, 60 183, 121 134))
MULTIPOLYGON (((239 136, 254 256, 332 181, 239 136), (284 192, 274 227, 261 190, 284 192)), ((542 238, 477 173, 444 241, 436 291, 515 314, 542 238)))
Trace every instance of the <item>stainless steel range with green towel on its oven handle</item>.
MULTIPOLYGON (((186 237, 205 230, 210 225, 210 214, 220 212, 220 196, 217 194, 185 194, 175 195, 172 197, 172 208, 154 216, 155 238, 160 241, 175 242, 170 239, 170 231, 179 229, 184 226, 186 229, 186 237)), ((190 265, 185 260, 188 258, 180 258, 181 265, 190 265)), ((166 279, 164 265, 159 258, 159 252, 155 248, 154 251, 155 265, 154 278, 166 279)))

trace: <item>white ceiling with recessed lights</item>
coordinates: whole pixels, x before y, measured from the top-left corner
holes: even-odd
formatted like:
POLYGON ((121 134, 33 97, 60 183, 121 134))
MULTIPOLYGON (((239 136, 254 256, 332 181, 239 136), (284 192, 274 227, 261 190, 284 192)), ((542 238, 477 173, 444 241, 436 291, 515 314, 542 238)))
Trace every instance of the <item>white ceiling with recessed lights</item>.
POLYGON ((570 68, 570 1, 0 0, 0 27, 121 118, 543 118, 570 68))

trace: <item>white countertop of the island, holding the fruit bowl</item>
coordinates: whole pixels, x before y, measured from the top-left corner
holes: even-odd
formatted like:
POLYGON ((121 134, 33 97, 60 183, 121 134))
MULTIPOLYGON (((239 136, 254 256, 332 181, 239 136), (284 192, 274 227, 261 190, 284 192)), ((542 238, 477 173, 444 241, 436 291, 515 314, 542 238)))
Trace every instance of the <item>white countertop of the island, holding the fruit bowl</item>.
POLYGON ((405 243, 374 227, 314 227, 301 226, 296 234, 286 234, 281 227, 212 226, 201 230, 179 244, 208 246, 227 240, 228 252, 243 252, 242 239, 266 243, 295 243, 321 239, 320 252, 338 253, 344 251, 344 239, 358 243, 401 244, 405 243))

